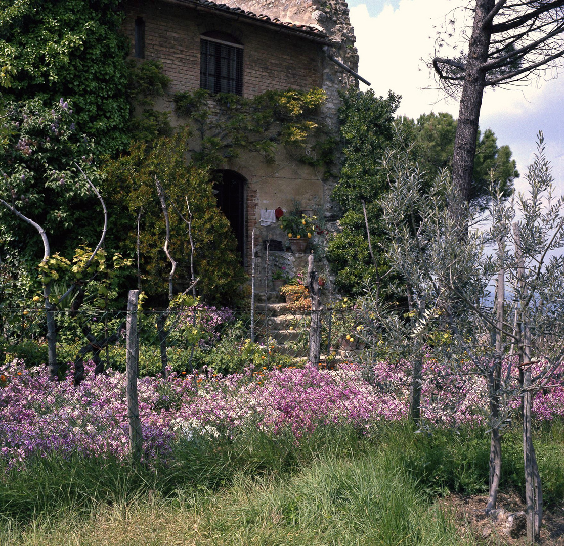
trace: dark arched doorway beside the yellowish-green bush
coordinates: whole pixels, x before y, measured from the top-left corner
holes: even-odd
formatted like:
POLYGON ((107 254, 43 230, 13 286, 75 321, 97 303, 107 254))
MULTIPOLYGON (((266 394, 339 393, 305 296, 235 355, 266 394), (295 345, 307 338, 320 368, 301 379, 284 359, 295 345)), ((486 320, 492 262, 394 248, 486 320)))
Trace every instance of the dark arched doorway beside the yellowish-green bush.
POLYGON ((246 178, 236 171, 215 171, 213 192, 217 206, 231 224, 237 239, 241 264, 245 257, 245 187, 246 178))

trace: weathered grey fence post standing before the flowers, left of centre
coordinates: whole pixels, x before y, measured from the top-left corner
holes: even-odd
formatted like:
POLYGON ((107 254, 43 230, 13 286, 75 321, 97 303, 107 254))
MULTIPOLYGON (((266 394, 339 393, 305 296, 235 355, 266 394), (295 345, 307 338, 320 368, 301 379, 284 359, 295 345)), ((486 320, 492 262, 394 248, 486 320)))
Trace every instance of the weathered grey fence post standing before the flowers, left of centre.
POLYGON ((139 370, 139 336, 137 332, 137 300, 139 290, 130 290, 127 298, 127 417, 129 418, 129 445, 131 459, 141 460, 143 434, 139 419, 137 375, 139 370))

